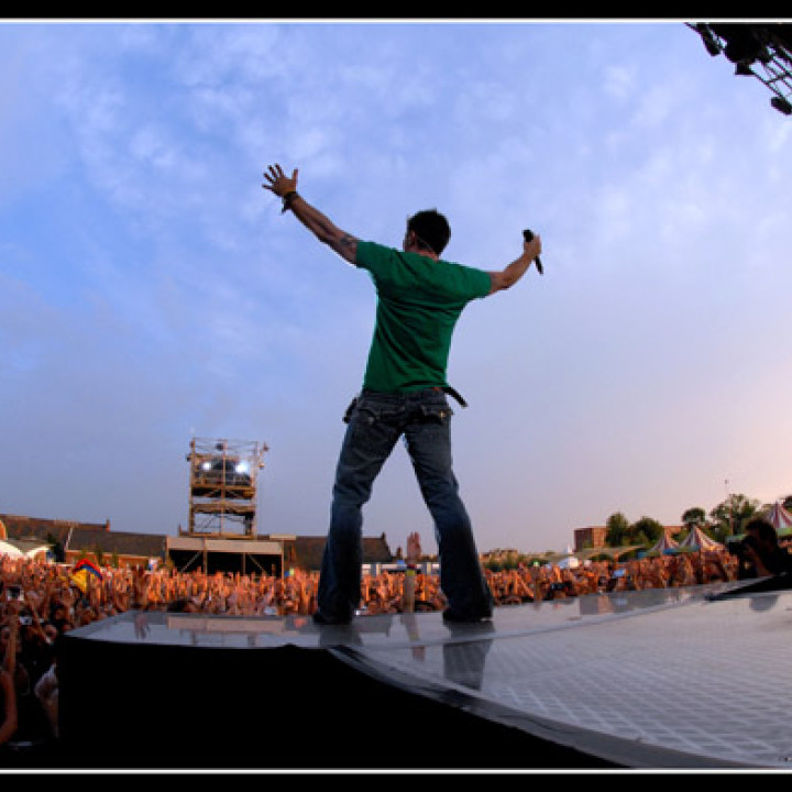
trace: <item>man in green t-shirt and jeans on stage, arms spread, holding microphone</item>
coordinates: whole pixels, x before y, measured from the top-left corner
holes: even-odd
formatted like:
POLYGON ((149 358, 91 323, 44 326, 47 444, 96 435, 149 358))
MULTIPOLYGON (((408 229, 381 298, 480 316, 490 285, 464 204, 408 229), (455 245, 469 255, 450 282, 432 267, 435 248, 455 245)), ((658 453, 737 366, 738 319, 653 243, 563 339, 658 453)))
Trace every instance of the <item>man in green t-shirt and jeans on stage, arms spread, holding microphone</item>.
POLYGON ((451 237, 436 210, 409 218, 403 249, 359 240, 337 228, 297 193, 295 169, 279 165, 265 184, 292 213, 343 260, 371 275, 377 294, 374 336, 363 389, 348 422, 336 471, 330 528, 319 580, 318 624, 349 624, 360 603, 363 505, 374 480, 404 436, 424 501, 435 521, 443 617, 476 623, 492 617, 470 517, 459 496, 451 461, 452 410, 447 394, 451 338, 464 307, 516 284, 541 253, 541 240, 524 241, 504 270, 484 272, 440 258, 451 237))

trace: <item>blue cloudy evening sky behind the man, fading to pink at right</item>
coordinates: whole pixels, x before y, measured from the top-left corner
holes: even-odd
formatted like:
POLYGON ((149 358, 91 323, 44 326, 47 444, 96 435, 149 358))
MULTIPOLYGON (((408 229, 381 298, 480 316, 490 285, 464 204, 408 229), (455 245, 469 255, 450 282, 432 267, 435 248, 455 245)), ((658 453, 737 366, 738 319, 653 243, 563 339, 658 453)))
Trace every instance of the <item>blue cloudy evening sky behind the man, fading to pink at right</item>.
MULTIPOLYGON (((323 536, 373 329, 360 239, 544 275, 454 336, 479 549, 792 493, 792 118, 683 20, 0 22, 0 514, 175 536, 190 440, 266 443, 257 531, 323 536)), ((397 447, 364 512, 433 528, 397 447)))

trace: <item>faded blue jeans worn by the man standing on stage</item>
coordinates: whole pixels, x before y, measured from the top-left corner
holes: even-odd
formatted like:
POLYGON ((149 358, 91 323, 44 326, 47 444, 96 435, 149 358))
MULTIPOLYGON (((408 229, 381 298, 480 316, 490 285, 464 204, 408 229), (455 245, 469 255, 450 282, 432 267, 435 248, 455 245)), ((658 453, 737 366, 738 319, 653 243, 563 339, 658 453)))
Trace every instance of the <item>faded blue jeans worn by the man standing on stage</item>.
POLYGON ((353 403, 336 471, 330 530, 319 579, 319 612, 348 620, 361 597, 363 505, 374 480, 404 436, 424 501, 435 521, 440 586, 459 616, 492 614, 473 529, 451 465, 451 415, 446 394, 370 391, 353 403))

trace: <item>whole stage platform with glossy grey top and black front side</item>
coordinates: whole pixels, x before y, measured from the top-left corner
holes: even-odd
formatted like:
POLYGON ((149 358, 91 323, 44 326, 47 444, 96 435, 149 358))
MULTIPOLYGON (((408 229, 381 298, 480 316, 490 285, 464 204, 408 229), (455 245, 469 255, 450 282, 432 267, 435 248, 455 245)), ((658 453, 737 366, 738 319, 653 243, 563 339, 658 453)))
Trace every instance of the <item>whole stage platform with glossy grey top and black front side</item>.
POLYGON ((784 769, 792 592, 440 614, 129 613, 64 636, 64 766, 784 769))

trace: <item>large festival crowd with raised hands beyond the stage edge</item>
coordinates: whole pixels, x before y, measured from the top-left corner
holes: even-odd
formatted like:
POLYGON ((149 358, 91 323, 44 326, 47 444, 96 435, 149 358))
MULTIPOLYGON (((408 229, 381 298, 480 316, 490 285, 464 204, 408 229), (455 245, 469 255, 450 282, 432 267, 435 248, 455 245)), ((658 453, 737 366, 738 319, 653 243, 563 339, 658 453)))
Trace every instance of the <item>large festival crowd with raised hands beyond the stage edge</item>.
MULTIPOLYGON (((57 739, 57 639, 67 630, 127 610, 232 616, 311 614, 318 573, 284 576, 102 566, 78 585, 74 568, 0 556, 0 751, 57 739)), ((495 603, 539 603, 620 590, 690 586, 738 578, 726 550, 592 561, 576 568, 520 564, 485 570, 495 603)), ((439 579, 383 572, 364 575, 361 613, 441 610, 439 579)))

